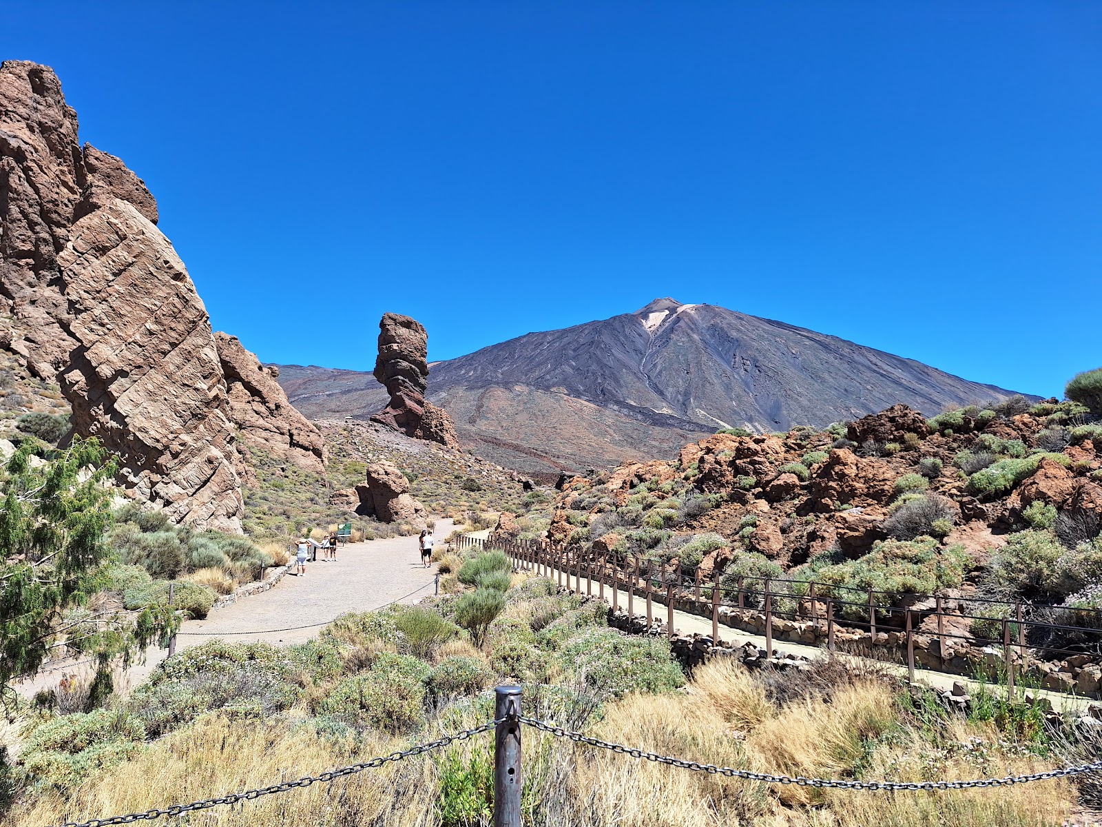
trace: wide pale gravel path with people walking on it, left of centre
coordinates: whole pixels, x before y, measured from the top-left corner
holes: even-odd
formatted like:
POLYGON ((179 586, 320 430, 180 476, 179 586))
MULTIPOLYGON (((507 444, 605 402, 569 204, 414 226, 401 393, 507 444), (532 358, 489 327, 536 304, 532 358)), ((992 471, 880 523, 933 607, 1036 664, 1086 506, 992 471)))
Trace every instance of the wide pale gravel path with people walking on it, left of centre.
MULTIPOLYGON (((452 529, 452 520, 437 519, 433 530, 437 544, 443 543, 452 529)), ((303 643, 345 612, 371 611, 392 602, 414 603, 431 595, 435 579, 435 565, 428 569, 421 566, 417 535, 341 546, 336 562, 323 561, 318 551, 317 561, 306 563, 304 576, 295 576, 292 568, 271 589, 213 610, 205 620, 181 624, 176 651, 218 637, 231 643, 303 643), (295 626, 307 627, 264 631, 295 626)), ((168 654, 168 649, 150 646, 145 651, 144 663, 136 663, 117 674, 116 688, 128 692, 143 681, 168 654)), ((56 687, 66 674, 91 675, 90 665, 83 660, 69 665, 56 664, 48 669, 14 684, 13 688, 30 698, 42 689, 56 687)))

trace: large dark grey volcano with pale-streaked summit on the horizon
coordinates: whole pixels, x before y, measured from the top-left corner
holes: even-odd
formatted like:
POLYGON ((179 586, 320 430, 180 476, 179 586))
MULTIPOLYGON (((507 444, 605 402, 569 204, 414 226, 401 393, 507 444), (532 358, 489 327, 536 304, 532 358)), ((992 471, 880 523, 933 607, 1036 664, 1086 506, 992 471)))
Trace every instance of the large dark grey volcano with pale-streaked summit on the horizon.
MULTIPOLYGON (((290 365, 279 378, 312 418, 366 419, 387 400, 369 373, 290 365)), ((821 427, 897 402, 933 415, 1012 393, 782 322, 656 299, 435 363, 428 396, 477 453, 538 473, 670 454, 728 426, 821 427)))

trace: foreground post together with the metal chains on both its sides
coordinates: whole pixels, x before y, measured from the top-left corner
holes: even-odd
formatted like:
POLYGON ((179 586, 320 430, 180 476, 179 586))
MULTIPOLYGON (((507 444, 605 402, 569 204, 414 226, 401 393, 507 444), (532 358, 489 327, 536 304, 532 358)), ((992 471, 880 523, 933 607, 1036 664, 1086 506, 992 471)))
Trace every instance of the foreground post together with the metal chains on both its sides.
POLYGON ((240 793, 229 793, 217 798, 204 798, 190 804, 174 804, 168 807, 155 807, 140 813, 129 813, 127 815, 110 816, 106 818, 93 818, 87 821, 67 821, 62 827, 106 827, 107 825, 132 824, 138 820, 152 820, 161 816, 179 816, 201 809, 208 809, 223 804, 237 804, 240 802, 256 801, 264 795, 285 793, 291 790, 309 787, 316 783, 328 783, 336 778, 364 772, 365 770, 377 769, 390 762, 402 761, 408 758, 421 755, 433 750, 447 747, 456 741, 464 741, 474 735, 489 730, 495 730, 494 740, 494 825, 495 827, 521 827, 521 790, 522 778, 522 752, 521 752, 521 724, 545 732, 552 738, 565 739, 574 743, 586 744, 601 750, 627 755, 628 758, 652 761, 658 764, 666 764, 681 770, 707 773, 709 775, 724 775, 731 778, 742 778, 744 781, 760 782, 764 784, 796 784, 797 786, 810 786, 832 790, 854 790, 867 792, 923 792, 923 791, 946 791, 946 790, 972 790, 985 787, 1002 787, 1013 784, 1028 784, 1037 781, 1048 781, 1051 778, 1063 778, 1073 775, 1099 772, 1102 770, 1102 761, 1094 761, 1085 764, 1062 766, 1056 770, 1046 770, 1038 773, 1022 773, 1018 775, 1004 775, 1001 777, 969 778, 964 781, 860 781, 856 778, 817 778, 802 775, 776 775, 771 773, 758 773, 750 770, 741 770, 733 766, 717 766, 715 764, 689 761, 676 755, 663 755, 650 752, 636 747, 604 741, 599 738, 583 734, 565 729, 555 723, 542 721, 523 715, 521 709, 522 690, 519 686, 499 686, 495 690, 495 718, 491 721, 472 727, 471 729, 456 732, 452 735, 444 735, 435 741, 418 744, 408 750, 392 752, 389 755, 364 761, 338 770, 331 770, 317 775, 306 775, 295 781, 285 781, 279 784, 271 784, 264 787, 246 790, 240 793))

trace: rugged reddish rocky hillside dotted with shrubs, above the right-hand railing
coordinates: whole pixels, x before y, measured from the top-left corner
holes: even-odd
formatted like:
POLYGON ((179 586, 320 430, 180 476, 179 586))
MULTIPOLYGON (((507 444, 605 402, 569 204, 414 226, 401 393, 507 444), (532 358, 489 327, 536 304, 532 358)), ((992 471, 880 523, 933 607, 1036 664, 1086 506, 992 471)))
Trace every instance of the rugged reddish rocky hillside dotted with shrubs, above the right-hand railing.
POLYGON ((825 430, 716 433, 569 481, 549 537, 726 584, 1102 608, 1102 394, 1091 408, 1017 397, 926 419, 898 405, 825 430))

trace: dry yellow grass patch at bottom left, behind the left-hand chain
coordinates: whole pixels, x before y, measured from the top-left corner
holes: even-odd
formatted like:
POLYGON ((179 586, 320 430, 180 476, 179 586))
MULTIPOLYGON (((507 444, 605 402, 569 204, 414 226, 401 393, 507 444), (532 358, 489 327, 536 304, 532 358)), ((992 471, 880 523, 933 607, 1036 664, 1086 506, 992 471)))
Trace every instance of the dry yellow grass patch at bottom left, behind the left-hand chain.
MULTIPOLYGON (((45 827, 72 818, 117 815, 219 796, 281 780, 385 755, 401 749, 400 739, 367 734, 360 741, 335 742, 310 727, 291 722, 201 719, 133 760, 119 764, 73 791, 68 799, 43 792, 25 808, 13 810, 11 827, 45 827)), ((353 825, 424 825, 431 819, 435 787, 432 762, 414 760, 329 784, 266 796, 242 807, 219 806, 187 817, 187 824, 279 825, 280 827, 353 827, 353 825)))

